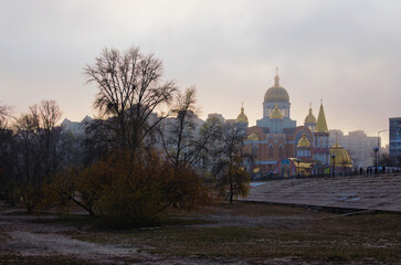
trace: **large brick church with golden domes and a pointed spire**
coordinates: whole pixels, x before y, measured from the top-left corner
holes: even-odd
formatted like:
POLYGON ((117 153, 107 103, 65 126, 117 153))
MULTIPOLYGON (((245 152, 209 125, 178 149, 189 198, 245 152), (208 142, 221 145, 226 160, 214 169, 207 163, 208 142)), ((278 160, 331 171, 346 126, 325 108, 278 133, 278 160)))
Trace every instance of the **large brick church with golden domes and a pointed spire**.
MULTIPOLYGON (((236 121, 247 125, 243 107, 236 121)), ((323 102, 317 119, 310 106, 304 125, 297 126, 291 118, 289 95, 276 73, 274 85, 264 95, 263 117, 246 130, 244 152, 247 155, 245 167, 256 178, 329 173, 336 161, 335 155, 330 156, 323 102)))

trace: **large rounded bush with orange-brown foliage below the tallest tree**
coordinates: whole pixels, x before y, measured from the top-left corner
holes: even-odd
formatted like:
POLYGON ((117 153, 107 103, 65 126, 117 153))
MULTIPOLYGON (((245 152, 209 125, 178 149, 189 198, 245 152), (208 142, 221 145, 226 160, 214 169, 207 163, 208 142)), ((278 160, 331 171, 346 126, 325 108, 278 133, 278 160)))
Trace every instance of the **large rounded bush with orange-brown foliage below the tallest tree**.
POLYGON ((84 170, 76 189, 113 227, 154 224, 169 206, 190 209, 210 198, 194 169, 173 166, 156 151, 114 152, 84 170))

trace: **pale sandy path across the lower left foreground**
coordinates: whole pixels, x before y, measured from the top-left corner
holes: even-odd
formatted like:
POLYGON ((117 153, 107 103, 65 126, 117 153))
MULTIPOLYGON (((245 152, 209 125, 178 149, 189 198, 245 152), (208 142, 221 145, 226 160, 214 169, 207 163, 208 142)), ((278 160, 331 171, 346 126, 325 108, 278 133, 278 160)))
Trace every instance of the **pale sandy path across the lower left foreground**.
POLYGON ((4 211, 0 206, 0 227, 3 237, 0 250, 17 252, 22 256, 66 256, 98 263, 118 261, 157 263, 159 258, 140 254, 136 248, 83 242, 64 235, 76 232, 73 226, 32 223, 35 216, 4 211), (62 234, 63 233, 63 234, 62 234))

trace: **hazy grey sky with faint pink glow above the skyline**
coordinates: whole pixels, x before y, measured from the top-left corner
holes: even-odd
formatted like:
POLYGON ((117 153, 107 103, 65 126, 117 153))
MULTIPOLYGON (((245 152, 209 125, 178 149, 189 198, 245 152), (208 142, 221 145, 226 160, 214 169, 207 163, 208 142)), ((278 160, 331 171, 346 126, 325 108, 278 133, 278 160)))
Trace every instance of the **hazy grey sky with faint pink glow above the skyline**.
MULTIPOLYGON (((197 87, 201 118, 262 118, 275 67, 303 125, 320 99, 329 129, 370 136, 401 116, 401 1, 0 0, 0 100, 15 116, 55 99, 95 116, 83 70, 104 47, 139 46, 163 78, 197 87)), ((388 142, 388 131, 381 132, 388 142)))

